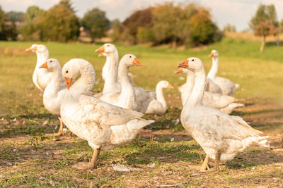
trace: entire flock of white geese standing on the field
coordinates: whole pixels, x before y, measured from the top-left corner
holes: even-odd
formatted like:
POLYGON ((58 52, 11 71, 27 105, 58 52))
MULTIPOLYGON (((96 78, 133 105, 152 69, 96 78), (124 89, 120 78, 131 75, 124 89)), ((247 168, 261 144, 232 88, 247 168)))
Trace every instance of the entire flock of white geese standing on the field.
MULTIPOLYGON (((173 88, 160 81, 156 92, 135 87, 129 67, 141 65, 136 56, 127 54, 119 62, 114 44, 104 44, 96 50, 106 56, 102 77, 103 92, 93 94, 96 72, 91 63, 73 58, 63 68, 55 58, 49 58, 44 45, 33 44, 27 51, 37 54, 33 82, 43 94, 43 103, 50 113, 81 139, 86 139, 93 149, 89 163, 79 163, 76 168, 97 168, 100 150, 113 149, 131 142, 141 128, 154 122, 141 118, 144 113, 163 114, 166 100, 163 88, 173 88)), ((191 57, 178 65, 176 73, 185 73, 187 81, 179 87, 183 110, 180 120, 185 130, 207 154, 202 170, 219 170, 219 161, 229 161, 248 146, 258 144, 269 148, 268 136, 250 127, 241 117, 229 115, 236 103, 233 94, 238 87, 229 79, 217 76, 218 52, 213 50, 212 69, 206 76, 199 58, 191 57), (214 167, 209 168, 209 158, 214 167)))

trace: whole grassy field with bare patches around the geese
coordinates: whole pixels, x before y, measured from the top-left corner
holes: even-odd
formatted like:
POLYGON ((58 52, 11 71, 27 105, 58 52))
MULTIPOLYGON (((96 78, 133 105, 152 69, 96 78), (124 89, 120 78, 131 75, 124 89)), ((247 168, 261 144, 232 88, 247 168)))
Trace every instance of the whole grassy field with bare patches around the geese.
MULTIPOLYGON (((0 42, 0 187, 279 187, 283 186, 283 149, 253 147, 221 165, 216 173, 200 172, 204 152, 180 123, 178 89, 166 90, 168 112, 147 115, 156 123, 146 127, 134 142, 102 152, 97 170, 80 171, 72 166, 91 158, 91 147, 78 137, 45 137, 56 132, 59 122, 42 104, 42 93, 32 75, 36 56, 25 52, 33 43, 0 42), (177 125, 176 125, 177 124, 177 125), (133 168, 122 173, 112 165, 133 168)), ((101 69, 105 58, 94 51, 101 44, 42 43, 50 57, 62 65, 71 58, 84 58, 96 69, 94 92, 103 89, 101 69)), ((176 88, 185 82, 175 75, 177 65, 190 56, 201 58, 208 71, 212 49, 219 51, 219 75, 241 84, 236 97, 246 107, 241 115, 258 130, 271 135, 272 146, 283 139, 283 46, 267 43, 263 54, 260 42, 225 37, 210 46, 172 50, 166 46, 124 46, 117 44, 120 57, 134 54, 143 64, 130 68, 139 87, 154 90, 159 80, 176 88)))

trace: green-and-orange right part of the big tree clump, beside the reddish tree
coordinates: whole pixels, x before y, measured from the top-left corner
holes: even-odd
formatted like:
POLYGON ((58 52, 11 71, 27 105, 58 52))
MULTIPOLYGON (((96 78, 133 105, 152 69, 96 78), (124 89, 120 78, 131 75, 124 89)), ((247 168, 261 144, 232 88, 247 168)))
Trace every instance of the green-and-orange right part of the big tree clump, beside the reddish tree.
POLYGON ((197 4, 161 4, 153 9, 154 38, 158 43, 171 42, 196 46, 220 39, 219 31, 207 9, 197 4))

